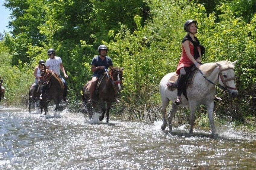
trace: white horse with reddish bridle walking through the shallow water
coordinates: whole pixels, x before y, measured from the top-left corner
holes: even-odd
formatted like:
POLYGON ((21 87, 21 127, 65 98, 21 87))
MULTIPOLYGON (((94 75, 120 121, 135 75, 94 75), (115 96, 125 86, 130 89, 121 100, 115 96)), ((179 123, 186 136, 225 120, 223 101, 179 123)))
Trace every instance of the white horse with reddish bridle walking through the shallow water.
POLYGON ((218 136, 216 133, 216 129, 214 126, 213 120, 213 108, 214 108, 214 97, 216 94, 216 86, 215 84, 219 82, 219 84, 228 89, 230 97, 236 97, 238 94, 237 88, 235 87, 235 63, 234 61, 231 63, 230 61, 221 61, 218 63, 205 63, 200 66, 200 70, 204 74, 204 76, 197 71, 193 84, 191 87, 187 88, 187 99, 184 95, 181 96, 181 104, 176 105, 174 100, 177 97, 177 89, 174 91, 168 90, 168 80, 171 76, 175 75, 175 73, 168 73, 165 75, 160 82, 160 94, 162 100, 162 119, 163 124, 161 126, 162 130, 166 128, 166 107, 169 104, 169 101, 172 101, 172 109, 168 114, 168 122, 169 122, 169 130, 172 131, 171 119, 174 114, 177 112, 178 107, 190 107, 190 134, 193 134, 193 125, 195 121, 195 110, 197 106, 201 104, 205 104, 207 107, 208 118, 211 125, 212 135, 214 138, 218 136), (211 83, 210 83, 211 82, 211 83), (214 83, 214 84, 213 84, 214 83))

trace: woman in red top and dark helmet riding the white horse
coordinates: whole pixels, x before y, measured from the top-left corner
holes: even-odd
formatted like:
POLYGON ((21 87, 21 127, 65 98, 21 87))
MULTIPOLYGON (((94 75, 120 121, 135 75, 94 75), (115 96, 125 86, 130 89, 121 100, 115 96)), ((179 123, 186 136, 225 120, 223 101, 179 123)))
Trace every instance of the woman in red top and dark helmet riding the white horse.
POLYGON ((199 69, 201 66, 201 54, 204 53, 204 47, 200 45, 195 36, 197 33, 196 24, 197 21, 195 20, 187 20, 184 24, 184 30, 187 32, 187 35, 182 39, 182 55, 176 70, 176 73, 179 75, 178 95, 174 102, 178 105, 181 103, 182 89, 186 85, 190 66, 194 64, 199 69))

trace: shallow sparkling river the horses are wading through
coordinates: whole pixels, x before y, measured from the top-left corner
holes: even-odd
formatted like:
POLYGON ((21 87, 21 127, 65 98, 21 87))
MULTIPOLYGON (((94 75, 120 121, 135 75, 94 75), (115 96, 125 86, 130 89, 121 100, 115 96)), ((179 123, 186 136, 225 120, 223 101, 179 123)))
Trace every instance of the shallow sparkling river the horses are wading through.
POLYGON ((188 137, 186 125, 162 131, 162 121, 105 122, 0 108, 0 169, 256 169, 255 134, 223 126, 212 139, 197 129, 188 137))

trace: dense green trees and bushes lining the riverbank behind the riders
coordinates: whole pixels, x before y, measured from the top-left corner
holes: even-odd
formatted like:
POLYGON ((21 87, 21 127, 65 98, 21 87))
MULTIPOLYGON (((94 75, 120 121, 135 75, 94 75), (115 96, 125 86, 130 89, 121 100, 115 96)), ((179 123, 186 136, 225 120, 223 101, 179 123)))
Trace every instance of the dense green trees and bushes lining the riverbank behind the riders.
MULTIPOLYGON (((5 6, 12 10, 9 26, 13 31, 5 34, 7 47, 0 45, 0 75, 5 78, 7 95, 14 95, 18 85, 22 86, 18 93, 25 95, 38 60, 46 60, 47 49, 54 48, 69 76, 70 103, 77 108, 82 87, 91 79, 91 59, 98 54, 98 46, 106 44, 114 65, 124 67, 124 88, 118 94, 123 102, 118 109, 124 109, 126 118, 154 121, 160 117, 159 82, 176 70, 185 36, 183 24, 194 19, 197 37, 206 48, 203 63, 238 60, 238 99, 231 100, 218 90, 223 100, 216 102, 216 115, 243 120, 243 113, 256 115, 256 8, 255 0, 245 2, 6 0, 5 6)), ((206 116, 199 113, 199 117, 206 116)))

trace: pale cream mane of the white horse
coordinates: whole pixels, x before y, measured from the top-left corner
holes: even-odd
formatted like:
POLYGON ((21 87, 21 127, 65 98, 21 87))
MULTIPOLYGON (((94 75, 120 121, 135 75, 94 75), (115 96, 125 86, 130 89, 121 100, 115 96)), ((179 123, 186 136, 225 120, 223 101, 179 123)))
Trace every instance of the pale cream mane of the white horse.
MULTIPOLYGON (((227 69, 227 68, 234 69, 234 66, 231 64, 230 61, 218 61, 217 63, 223 66, 222 69, 227 69)), ((218 65, 216 63, 205 63, 200 66, 200 70, 203 71, 204 75, 207 77, 207 76, 210 76, 210 74, 213 72, 213 70, 217 66, 218 65)))

